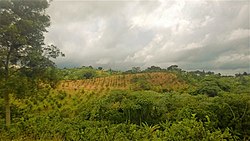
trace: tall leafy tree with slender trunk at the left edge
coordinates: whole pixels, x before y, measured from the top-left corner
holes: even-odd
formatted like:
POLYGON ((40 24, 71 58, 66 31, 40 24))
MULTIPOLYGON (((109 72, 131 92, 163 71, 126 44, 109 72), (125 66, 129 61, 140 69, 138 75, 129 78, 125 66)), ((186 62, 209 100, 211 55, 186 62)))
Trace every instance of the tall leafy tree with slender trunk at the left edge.
MULTIPOLYGON (((50 58, 62 55, 54 46, 45 46, 44 32, 50 25, 46 14, 47 0, 1 0, 0 1, 0 71, 3 72, 3 89, 6 109, 6 126, 10 120, 10 81, 16 74, 32 79, 54 63, 50 58)), ((41 78, 41 77, 40 77, 41 78)), ((15 82, 13 82, 15 83, 15 82)))

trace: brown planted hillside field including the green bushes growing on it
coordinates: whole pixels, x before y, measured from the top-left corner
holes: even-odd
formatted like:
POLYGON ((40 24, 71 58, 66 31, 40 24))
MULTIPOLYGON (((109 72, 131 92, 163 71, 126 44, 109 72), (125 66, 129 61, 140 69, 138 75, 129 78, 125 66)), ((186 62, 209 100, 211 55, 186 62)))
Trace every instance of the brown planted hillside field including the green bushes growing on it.
POLYGON ((168 92, 185 88, 187 88, 187 84, 184 81, 180 81, 175 74, 168 72, 111 75, 83 80, 62 80, 57 87, 58 90, 69 93, 82 90, 103 92, 114 89, 152 89, 168 92))

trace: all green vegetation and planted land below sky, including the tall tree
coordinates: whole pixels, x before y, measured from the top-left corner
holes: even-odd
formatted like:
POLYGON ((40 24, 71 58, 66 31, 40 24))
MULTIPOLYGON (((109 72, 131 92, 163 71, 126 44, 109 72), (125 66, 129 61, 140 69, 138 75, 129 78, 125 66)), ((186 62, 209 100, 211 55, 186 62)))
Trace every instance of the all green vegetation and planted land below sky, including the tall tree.
POLYGON ((250 140, 249 74, 59 69, 48 1, 0 5, 0 140, 250 140))

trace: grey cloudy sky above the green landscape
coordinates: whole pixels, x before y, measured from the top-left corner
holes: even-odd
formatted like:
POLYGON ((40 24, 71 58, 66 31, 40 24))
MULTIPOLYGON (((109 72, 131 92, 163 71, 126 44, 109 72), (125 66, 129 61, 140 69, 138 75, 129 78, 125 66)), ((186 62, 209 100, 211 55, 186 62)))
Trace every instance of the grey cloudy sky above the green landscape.
POLYGON ((53 0, 47 13, 59 67, 250 72, 248 0, 53 0))

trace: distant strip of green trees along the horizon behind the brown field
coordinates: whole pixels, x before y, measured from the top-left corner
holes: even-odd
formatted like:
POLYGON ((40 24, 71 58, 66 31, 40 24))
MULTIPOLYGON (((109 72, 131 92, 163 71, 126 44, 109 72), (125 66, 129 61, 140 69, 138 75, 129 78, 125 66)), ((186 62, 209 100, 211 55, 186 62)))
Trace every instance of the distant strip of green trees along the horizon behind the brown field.
MULTIPOLYGON (((63 68, 58 69, 58 74, 60 74, 60 79, 64 80, 79 80, 79 79, 91 79, 96 77, 106 77, 110 75, 120 75, 120 74, 137 74, 137 73, 148 73, 148 72, 174 72, 174 73, 188 73, 191 75, 197 76, 207 76, 207 75, 219 75, 220 73, 216 74, 212 71, 185 71, 179 68, 178 65, 171 65, 167 68, 161 68, 158 66, 150 66, 146 69, 141 69, 140 67, 132 67, 126 71, 120 70, 113 70, 113 69, 103 69, 102 67, 94 68, 92 66, 82 66, 82 67, 75 67, 75 68, 63 68)), ((240 76, 249 76, 250 74, 247 72, 237 73, 235 74, 236 77, 240 76)), ((226 76, 225 76, 226 77, 226 76)), ((227 77, 232 77, 229 75, 227 77)))

